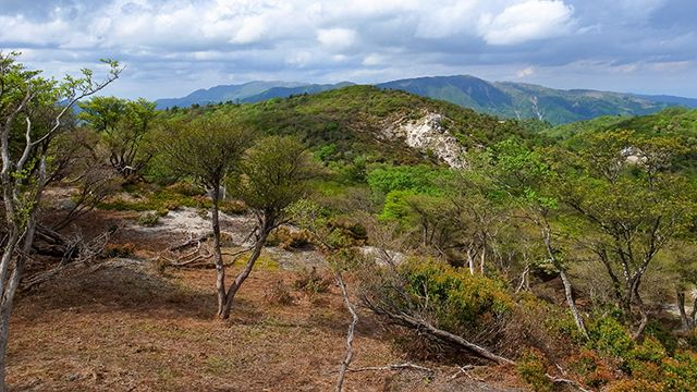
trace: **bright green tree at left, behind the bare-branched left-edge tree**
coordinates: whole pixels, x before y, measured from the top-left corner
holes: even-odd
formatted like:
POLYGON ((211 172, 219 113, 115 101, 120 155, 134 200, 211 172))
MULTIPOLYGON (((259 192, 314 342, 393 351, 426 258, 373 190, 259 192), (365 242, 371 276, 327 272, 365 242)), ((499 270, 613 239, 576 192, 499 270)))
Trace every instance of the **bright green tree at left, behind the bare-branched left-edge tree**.
POLYGON ((155 102, 94 97, 80 103, 80 119, 101 135, 109 163, 124 179, 140 172, 152 154, 144 143, 156 118, 155 102))

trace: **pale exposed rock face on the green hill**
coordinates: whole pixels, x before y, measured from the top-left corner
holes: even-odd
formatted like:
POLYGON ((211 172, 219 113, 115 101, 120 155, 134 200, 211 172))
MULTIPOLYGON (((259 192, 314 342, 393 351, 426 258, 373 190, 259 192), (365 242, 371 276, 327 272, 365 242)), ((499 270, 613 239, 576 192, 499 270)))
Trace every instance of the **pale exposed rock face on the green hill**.
POLYGON ((465 148, 448 132, 443 125, 443 117, 425 112, 418 120, 401 120, 382 131, 388 139, 402 139, 404 143, 424 154, 432 154, 451 168, 464 168, 465 148))

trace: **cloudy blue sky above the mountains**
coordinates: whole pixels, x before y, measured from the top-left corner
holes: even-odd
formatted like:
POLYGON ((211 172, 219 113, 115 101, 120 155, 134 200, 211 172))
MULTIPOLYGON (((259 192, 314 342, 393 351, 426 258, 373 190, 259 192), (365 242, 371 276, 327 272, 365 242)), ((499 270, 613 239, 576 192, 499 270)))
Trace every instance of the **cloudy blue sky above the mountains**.
POLYGON ((125 65, 148 99, 249 81, 469 74, 697 98, 695 0, 0 0, 0 50, 59 77, 125 65))

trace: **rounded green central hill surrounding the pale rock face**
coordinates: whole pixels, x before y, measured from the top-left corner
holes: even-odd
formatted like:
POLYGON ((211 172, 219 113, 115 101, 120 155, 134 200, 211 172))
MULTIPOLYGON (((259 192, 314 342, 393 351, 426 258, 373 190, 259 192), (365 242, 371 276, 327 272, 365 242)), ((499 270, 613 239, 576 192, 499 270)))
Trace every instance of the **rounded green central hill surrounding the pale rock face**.
POLYGON ((357 156, 372 156, 395 163, 435 162, 427 154, 380 136, 384 128, 418 120, 425 113, 441 114, 444 128, 465 147, 487 146, 511 135, 523 137, 526 134, 517 121, 504 121, 453 103, 372 86, 348 86, 316 95, 174 112, 204 110, 234 111, 256 130, 295 135, 315 150, 323 148, 331 160, 351 161, 357 156))

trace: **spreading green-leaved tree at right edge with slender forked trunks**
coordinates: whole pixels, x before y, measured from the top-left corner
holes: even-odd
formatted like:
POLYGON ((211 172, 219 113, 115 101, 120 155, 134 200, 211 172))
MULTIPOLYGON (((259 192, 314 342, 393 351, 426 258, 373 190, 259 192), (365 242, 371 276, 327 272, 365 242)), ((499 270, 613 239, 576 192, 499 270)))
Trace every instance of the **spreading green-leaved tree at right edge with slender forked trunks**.
POLYGON ((568 157, 566 179, 558 188, 591 229, 580 241, 602 264, 627 322, 637 322, 635 339, 648 322, 641 281, 657 255, 687 232, 697 212, 695 186, 673 171, 686 148, 675 137, 627 131, 587 136, 568 157))

